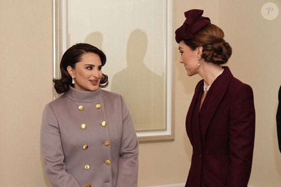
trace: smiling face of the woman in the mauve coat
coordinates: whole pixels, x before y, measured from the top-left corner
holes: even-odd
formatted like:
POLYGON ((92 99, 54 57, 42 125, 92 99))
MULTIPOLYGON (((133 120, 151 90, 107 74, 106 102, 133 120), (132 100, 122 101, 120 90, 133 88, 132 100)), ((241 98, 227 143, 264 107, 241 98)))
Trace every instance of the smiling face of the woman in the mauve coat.
POLYGON ((102 64, 95 53, 85 53, 81 56, 75 68, 67 67, 67 71, 75 79, 74 88, 81 91, 96 91, 102 78, 102 64))

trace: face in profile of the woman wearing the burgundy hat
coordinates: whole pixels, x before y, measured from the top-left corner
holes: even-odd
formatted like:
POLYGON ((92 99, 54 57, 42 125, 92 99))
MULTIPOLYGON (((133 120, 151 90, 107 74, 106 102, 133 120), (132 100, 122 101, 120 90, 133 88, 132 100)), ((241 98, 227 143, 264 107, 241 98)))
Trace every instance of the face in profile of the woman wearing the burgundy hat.
POLYGON ((184 64, 188 76, 198 73, 198 59, 201 58, 200 49, 200 47, 197 47, 195 50, 192 50, 184 41, 179 43, 179 51, 181 53, 180 63, 184 64))

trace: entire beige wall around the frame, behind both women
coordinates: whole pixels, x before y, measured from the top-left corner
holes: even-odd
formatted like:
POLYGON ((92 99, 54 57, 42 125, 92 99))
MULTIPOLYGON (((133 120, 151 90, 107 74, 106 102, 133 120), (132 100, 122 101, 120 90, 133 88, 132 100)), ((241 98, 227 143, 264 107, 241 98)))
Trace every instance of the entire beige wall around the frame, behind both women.
MULTIPOLYGON (((255 95, 256 141, 250 185, 281 184, 281 154, 276 138, 277 91, 281 84, 281 16, 261 17, 265 0, 173 0, 174 26, 183 13, 204 9, 233 47, 234 76, 249 83, 255 95)), ((281 8, 280 0, 272 0, 281 8)), ((185 115, 200 79, 188 78, 178 63, 174 42, 172 142, 140 146, 139 187, 183 183, 191 146, 185 115)), ((49 187, 43 173, 39 130, 42 110, 52 99, 52 0, 0 0, 0 186, 49 187)))

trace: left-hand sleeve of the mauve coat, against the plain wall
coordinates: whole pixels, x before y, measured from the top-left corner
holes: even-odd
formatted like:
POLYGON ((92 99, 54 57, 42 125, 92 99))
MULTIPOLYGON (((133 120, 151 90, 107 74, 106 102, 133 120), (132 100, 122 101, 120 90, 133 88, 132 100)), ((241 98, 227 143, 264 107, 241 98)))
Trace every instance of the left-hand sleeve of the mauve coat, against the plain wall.
POLYGON ((60 128, 49 104, 43 112, 40 140, 45 172, 52 187, 80 187, 76 179, 65 171, 60 128))

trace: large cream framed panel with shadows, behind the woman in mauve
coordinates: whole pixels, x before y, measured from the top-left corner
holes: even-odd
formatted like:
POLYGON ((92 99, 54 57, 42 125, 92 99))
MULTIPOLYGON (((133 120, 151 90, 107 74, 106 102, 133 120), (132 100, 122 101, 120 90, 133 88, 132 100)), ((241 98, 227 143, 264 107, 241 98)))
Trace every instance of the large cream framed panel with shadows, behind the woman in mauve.
POLYGON ((107 56, 105 90, 124 96, 139 140, 173 140, 172 0, 53 3, 54 78, 60 77, 67 48, 77 43, 98 47, 107 56))

